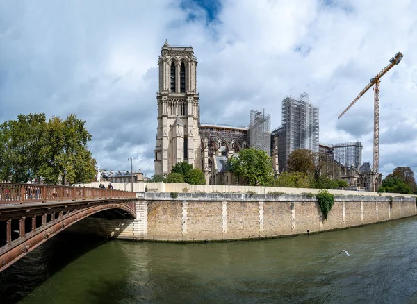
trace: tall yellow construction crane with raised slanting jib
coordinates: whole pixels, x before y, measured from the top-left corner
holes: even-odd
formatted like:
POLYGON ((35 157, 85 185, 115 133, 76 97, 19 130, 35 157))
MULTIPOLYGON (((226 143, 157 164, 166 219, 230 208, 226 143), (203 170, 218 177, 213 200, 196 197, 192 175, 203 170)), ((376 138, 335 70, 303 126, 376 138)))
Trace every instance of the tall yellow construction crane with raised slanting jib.
POLYGON ((402 59, 402 53, 398 52, 395 54, 393 58, 389 60, 389 65, 384 67, 382 71, 380 71, 377 76, 374 78, 370 78, 370 82, 366 87, 359 93, 357 98, 355 98, 350 105, 339 115, 338 119, 342 117, 347 110, 349 110, 354 103, 361 98, 363 94, 366 93, 370 89, 370 87, 374 86, 374 146, 373 146, 373 170, 375 173, 379 173, 379 79, 381 79, 384 74, 391 69, 394 65, 398 65, 402 59))

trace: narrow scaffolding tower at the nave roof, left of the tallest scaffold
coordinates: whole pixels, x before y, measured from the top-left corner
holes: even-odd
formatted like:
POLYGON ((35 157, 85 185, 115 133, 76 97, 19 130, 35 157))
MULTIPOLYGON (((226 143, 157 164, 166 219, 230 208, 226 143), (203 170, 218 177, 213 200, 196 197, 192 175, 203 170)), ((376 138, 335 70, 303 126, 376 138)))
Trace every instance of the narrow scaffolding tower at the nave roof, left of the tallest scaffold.
POLYGON ((271 153, 271 115, 265 115, 265 109, 250 111, 250 125, 248 130, 249 145, 255 149, 271 153))

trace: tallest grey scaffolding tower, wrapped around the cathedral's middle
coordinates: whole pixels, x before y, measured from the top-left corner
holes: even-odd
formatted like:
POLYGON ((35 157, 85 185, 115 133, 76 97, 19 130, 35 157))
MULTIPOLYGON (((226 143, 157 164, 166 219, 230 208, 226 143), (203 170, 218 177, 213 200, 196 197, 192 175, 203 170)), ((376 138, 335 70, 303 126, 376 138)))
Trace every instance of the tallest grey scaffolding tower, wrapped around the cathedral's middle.
POLYGON ((287 96, 282 101, 282 126, 273 131, 278 137, 279 171, 287 171, 288 155, 295 149, 318 152, 318 107, 309 94, 300 99, 287 96))

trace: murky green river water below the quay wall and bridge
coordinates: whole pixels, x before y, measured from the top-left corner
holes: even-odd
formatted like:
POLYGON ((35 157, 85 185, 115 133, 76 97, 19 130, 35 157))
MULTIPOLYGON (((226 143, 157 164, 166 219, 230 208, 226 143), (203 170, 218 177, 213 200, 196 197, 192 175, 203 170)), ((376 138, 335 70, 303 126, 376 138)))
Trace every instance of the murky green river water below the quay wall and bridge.
POLYGON ((417 218, 206 244, 63 233, 0 273, 0 303, 417 303, 417 218))

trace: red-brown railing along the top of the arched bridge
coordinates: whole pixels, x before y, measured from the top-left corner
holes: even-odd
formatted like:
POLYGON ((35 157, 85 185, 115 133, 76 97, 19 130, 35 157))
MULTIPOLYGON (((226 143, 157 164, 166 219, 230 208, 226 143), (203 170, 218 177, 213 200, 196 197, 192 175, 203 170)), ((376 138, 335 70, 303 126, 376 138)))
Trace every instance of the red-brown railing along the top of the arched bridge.
POLYGON ((135 192, 75 186, 0 183, 0 205, 83 199, 136 197, 135 192))

